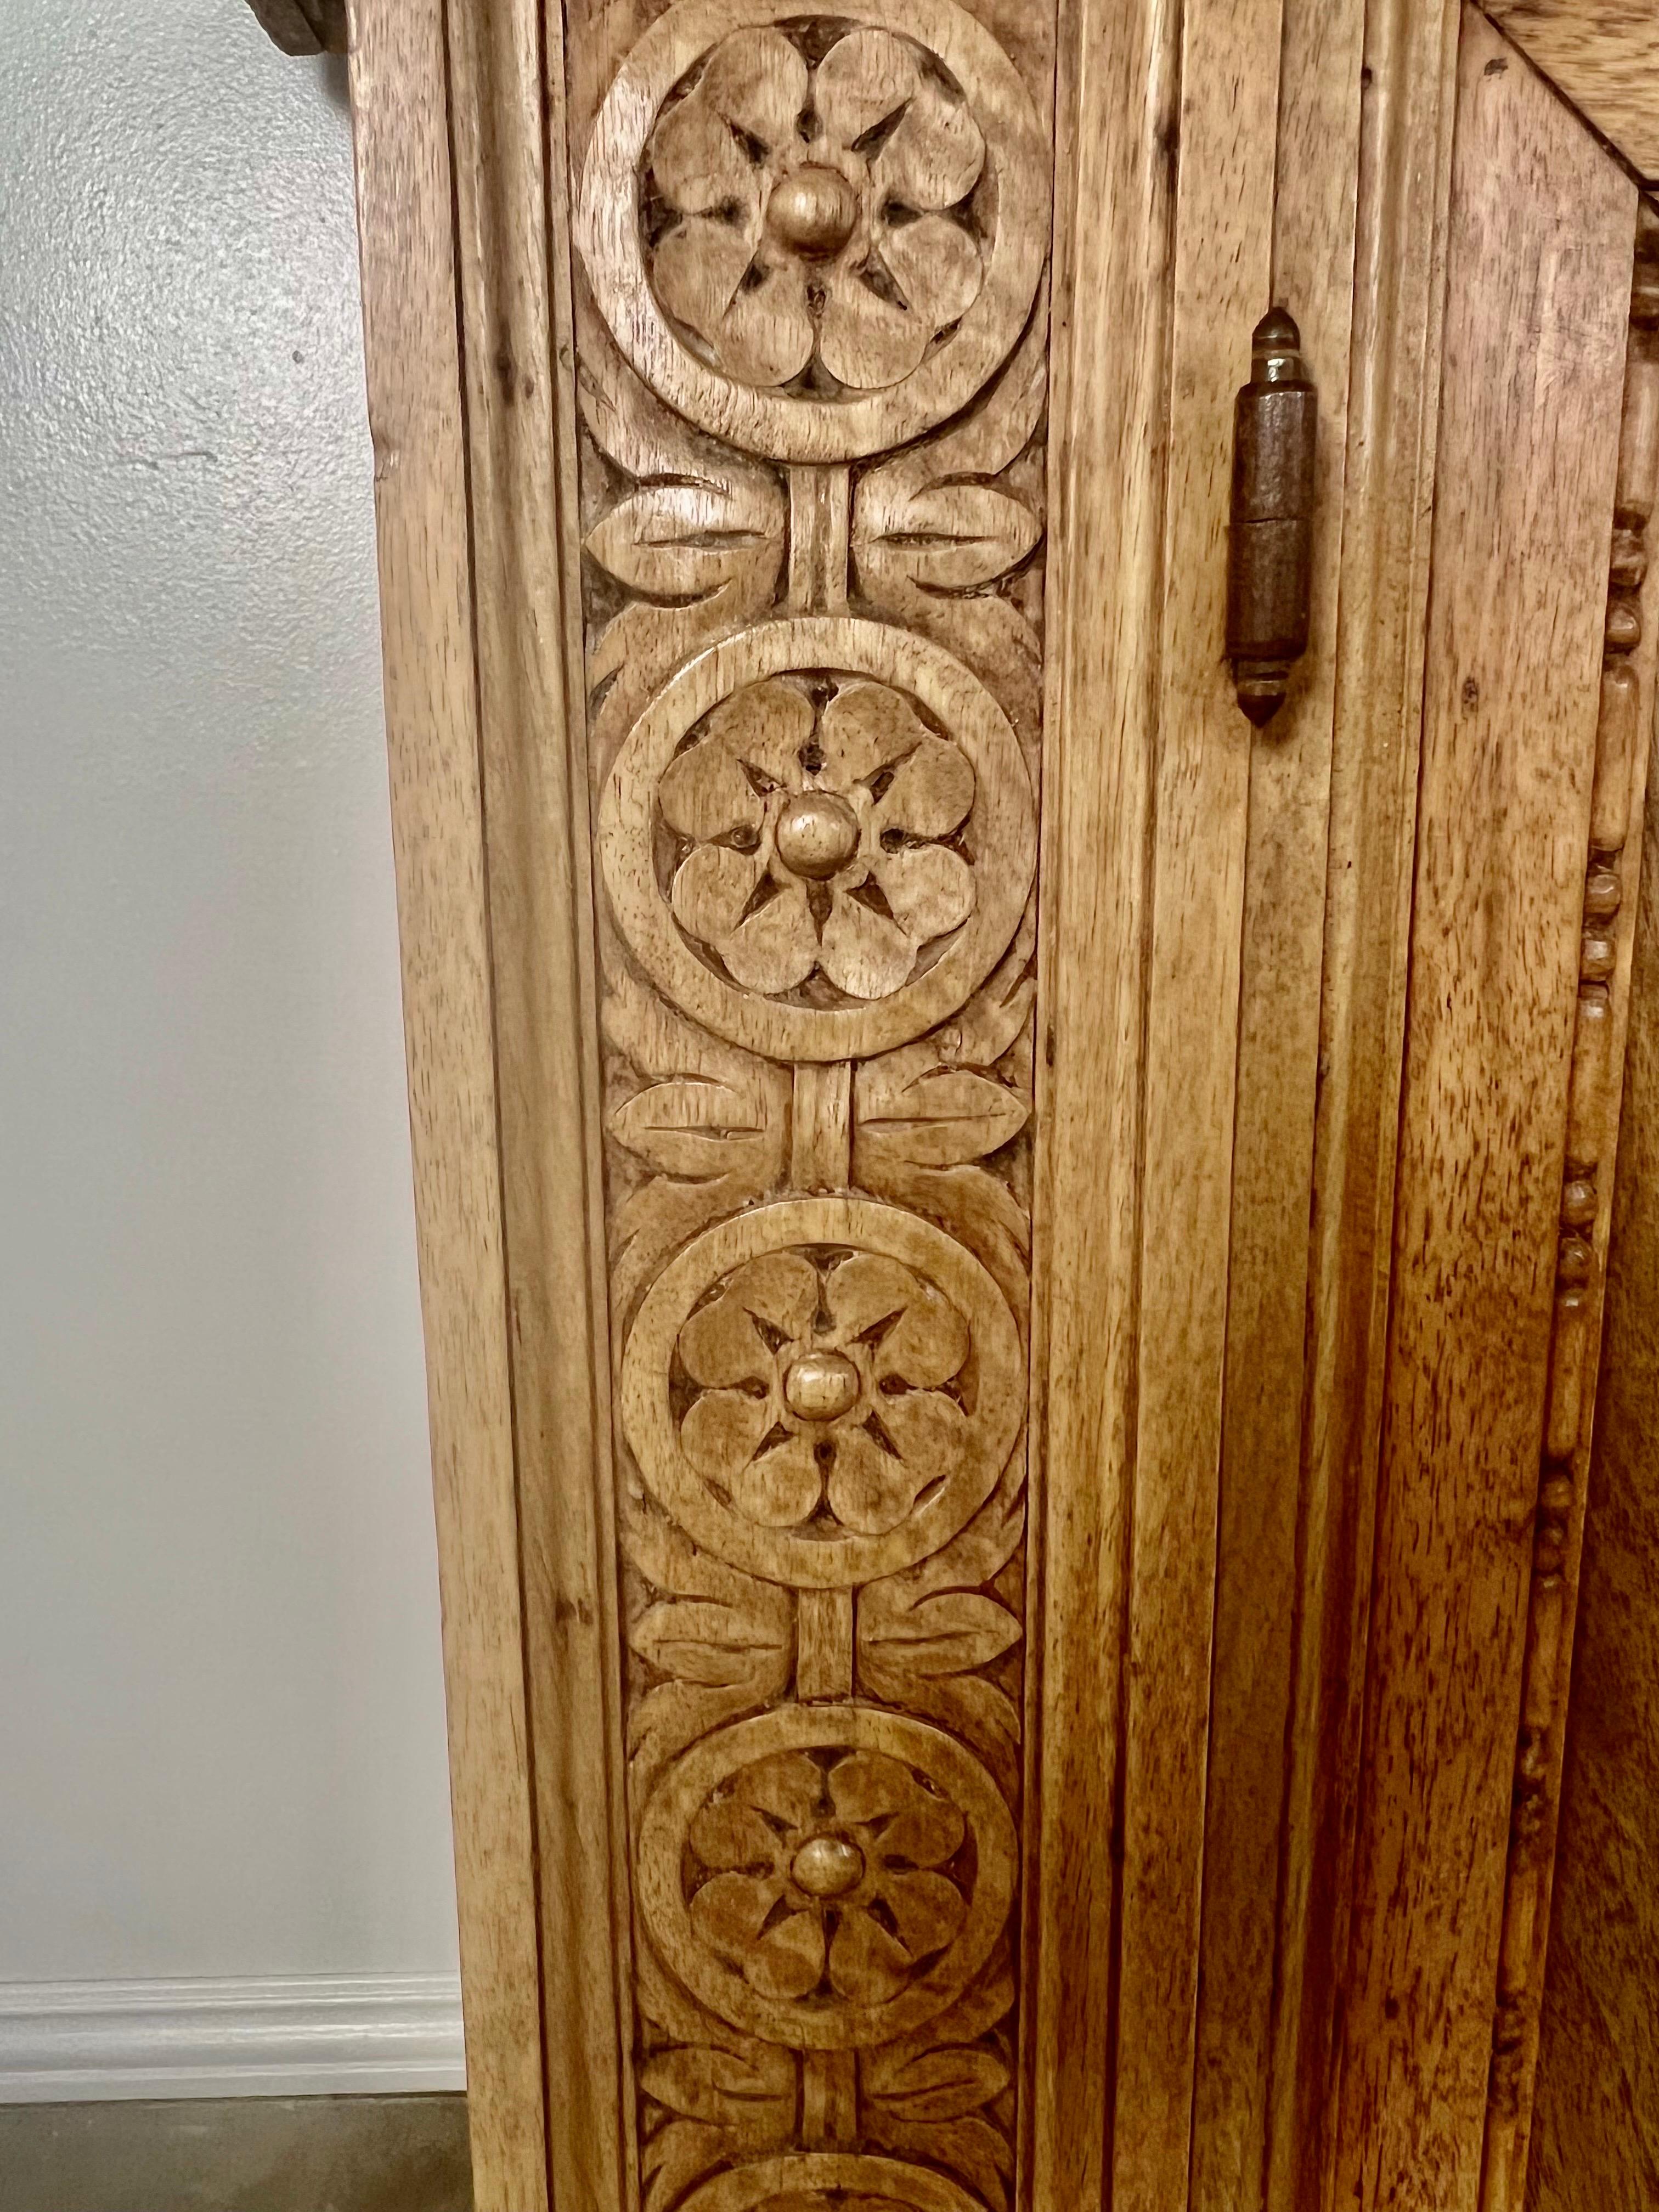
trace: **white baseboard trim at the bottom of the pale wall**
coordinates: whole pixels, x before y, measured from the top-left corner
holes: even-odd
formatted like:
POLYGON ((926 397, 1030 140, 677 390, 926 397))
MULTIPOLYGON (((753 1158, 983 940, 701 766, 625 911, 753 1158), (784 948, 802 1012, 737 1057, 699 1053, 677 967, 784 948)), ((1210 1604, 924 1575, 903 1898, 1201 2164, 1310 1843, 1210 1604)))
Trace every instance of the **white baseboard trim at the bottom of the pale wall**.
POLYGON ((467 2086, 445 1973, 0 1982, 0 2104, 467 2086))

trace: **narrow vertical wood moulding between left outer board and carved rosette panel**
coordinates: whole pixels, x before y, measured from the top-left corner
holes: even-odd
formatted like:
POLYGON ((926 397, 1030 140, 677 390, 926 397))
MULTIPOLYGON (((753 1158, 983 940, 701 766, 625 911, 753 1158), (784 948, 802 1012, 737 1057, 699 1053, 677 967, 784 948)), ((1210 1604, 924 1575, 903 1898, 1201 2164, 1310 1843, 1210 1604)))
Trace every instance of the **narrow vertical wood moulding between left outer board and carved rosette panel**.
POLYGON ((542 20, 451 0, 467 438, 553 2201, 628 2201, 615 1522, 580 650, 575 389, 542 20))

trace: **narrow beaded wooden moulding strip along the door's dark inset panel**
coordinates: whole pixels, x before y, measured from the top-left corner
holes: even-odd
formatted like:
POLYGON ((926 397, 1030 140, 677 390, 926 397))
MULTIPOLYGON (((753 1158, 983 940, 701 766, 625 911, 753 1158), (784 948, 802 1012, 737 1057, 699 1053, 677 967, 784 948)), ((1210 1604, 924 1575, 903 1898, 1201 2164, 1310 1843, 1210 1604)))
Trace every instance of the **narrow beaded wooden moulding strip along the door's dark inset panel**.
POLYGON ((1644 204, 1630 294, 1606 657, 1584 874, 1566 1175, 1555 1265, 1544 1458, 1533 1537, 1504 1933, 1493 2022, 1482 2212, 1520 2212, 1537 2064, 1559 1809, 1573 1608, 1584 1535, 1595 1363, 1601 1340, 1613 1159, 1619 1128, 1637 841, 1652 730, 1652 639, 1644 650, 1648 522, 1659 482, 1659 217, 1644 204))

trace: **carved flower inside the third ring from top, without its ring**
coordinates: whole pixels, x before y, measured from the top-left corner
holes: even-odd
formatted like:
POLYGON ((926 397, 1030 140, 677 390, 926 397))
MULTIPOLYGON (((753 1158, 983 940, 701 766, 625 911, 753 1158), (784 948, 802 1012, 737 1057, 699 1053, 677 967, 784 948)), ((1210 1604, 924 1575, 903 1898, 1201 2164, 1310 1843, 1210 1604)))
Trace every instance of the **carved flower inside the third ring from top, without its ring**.
POLYGON ((765 1252, 679 1332, 699 1389, 681 1449, 763 1528, 827 1504, 883 1535, 962 1451, 947 1385, 967 1356, 962 1314, 902 1261, 854 1252, 821 1276, 805 1252, 765 1252))

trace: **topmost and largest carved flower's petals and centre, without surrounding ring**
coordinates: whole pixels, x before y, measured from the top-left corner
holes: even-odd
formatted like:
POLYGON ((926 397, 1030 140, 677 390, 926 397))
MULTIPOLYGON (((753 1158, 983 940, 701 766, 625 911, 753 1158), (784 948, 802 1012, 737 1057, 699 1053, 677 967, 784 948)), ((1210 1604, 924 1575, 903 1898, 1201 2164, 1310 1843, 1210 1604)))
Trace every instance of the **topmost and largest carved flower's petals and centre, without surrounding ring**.
POLYGON ((787 385, 816 358, 838 385, 896 385, 984 283, 973 230, 945 212, 984 137, 891 31, 847 31, 816 69, 781 31, 732 31, 646 166, 670 221, 648 248, 657 296, 741 383, 787 385))

